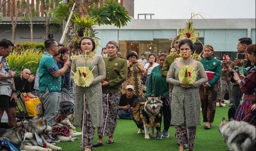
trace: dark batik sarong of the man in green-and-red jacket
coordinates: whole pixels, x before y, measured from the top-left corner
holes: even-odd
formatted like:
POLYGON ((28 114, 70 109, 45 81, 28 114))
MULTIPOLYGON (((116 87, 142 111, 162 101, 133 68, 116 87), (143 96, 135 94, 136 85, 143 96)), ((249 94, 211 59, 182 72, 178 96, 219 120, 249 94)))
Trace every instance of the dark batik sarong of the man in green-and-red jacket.
POLYGON ((215 83, 209 88, 200 86, 201 108, 203 112, 203 121, 213 123, 216 112, 217 94, 220 82, 215 83))

